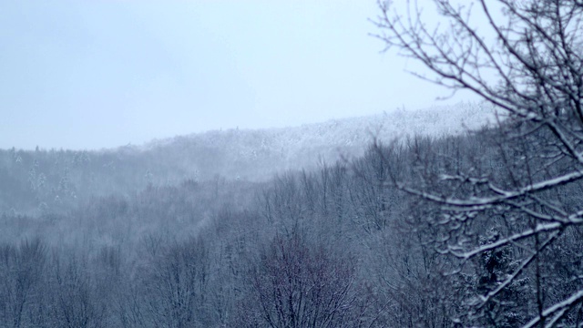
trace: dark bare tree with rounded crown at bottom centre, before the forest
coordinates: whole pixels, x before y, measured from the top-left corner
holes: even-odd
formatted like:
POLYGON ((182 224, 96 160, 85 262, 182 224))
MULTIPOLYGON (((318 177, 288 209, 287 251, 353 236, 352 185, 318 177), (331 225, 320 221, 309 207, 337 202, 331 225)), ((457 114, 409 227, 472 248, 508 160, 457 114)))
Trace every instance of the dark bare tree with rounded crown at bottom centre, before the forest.
POLYGON ((343 327, 357 311, 354 264, 297 233, 275 237, 250 272, 240 325, 343 327))

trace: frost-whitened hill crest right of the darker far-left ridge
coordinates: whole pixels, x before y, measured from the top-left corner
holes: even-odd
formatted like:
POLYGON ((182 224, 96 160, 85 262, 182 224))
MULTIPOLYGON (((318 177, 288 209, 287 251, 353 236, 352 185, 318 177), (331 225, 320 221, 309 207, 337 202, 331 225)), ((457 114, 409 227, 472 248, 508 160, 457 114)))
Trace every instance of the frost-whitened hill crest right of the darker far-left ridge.
POLYGON ((388 142, 414 135, 457 135, 494 122, 492 107, 459 103, 300 127, 209 131, 155 140, 141 151, 164 151, 175 162, 186 160, 203 178, 219 173, 228 178, 263 179, 285 169, 311 169, 321 160, 361 155, 374 138, 388 142))

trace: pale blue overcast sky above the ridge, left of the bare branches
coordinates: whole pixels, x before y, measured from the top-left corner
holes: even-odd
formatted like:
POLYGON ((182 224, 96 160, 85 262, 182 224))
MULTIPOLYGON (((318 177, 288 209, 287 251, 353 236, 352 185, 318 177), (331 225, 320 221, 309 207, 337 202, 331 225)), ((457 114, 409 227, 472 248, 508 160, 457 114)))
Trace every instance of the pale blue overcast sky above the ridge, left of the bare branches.
POLYGON ((375 0, 0 4, 0 149, 102 149, 454 104, 375 0))

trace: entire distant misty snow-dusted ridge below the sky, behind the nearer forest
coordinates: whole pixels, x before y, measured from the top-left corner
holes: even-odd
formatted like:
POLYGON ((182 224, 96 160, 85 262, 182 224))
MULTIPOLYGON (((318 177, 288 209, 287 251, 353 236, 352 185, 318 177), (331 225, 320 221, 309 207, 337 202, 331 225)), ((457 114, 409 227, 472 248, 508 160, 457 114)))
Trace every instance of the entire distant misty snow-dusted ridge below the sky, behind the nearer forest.
POLYGON ((493 109, 461 103, 396 110, 294 128, 229 129, 98 151, 0 149, 0 212, 66 209, 80 200, 184 180, 264 181, 363 154, 377 138, 464 133, 494 122, 493 109))

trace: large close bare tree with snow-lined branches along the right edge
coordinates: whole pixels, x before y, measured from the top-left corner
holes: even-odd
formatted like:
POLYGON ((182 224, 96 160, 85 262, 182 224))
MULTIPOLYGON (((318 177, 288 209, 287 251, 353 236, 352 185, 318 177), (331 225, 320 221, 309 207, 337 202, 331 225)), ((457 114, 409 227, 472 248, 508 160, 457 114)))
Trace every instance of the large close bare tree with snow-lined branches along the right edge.
POLYGON ((503 135, 496 152, 503 165, 441 170, 422 187, 400 179, 393 179, 394 185, 438 206, 431 220, 443 229, 435 244, 460 260, 459 272, 489 251, 517 250, 516 263, 508 266, 513 270, 467 301, 473 310, 466 317, 487 316, 492 302, 504 307, 504 294, 528 276, 533 307, 514 323, 578 326, 580 263, 569 264, 568 275, 560 277, 561 262, 548 264, 580 245, 565 239, 577 235, 583 223, 577 201, 583 178, 583 2, 434 0, 433 5, 443 20, 435 27, 425 23, 417 2, 408 1, 401 14, 392 1, 379 1, 379 37, 387 48, 428 68, 428 75, 418 77, 454 93, 469 90, 505 113, 496 130, 503 135), (496 241, 477 241, 484 224, 504 227, 496 241), (554 285, 568 290, 558 296, 551 292, 554 285))

